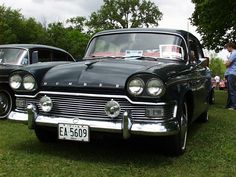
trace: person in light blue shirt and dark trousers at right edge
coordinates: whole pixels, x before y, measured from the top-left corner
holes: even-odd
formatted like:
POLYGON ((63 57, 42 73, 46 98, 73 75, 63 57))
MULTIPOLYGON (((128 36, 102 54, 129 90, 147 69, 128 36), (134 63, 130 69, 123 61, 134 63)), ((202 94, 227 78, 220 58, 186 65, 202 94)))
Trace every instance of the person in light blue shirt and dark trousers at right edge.
POLYGON ((236 110, 236 45, 229 42, 225 45, 225 49, 230 52, 230 56, 226 61, 225 78, 228 86, 228 100, 226 108, 236 110))

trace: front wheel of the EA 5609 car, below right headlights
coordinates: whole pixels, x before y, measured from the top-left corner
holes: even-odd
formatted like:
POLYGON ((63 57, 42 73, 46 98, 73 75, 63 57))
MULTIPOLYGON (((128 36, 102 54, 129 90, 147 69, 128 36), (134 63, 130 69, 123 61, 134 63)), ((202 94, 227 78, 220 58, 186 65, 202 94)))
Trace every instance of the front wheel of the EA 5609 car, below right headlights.
POLYGON ((187 135, 188 135, 188 106, 185 101, 179 113, 179 126, 180 131, 177 135, 174 135, 172 141, 172 154, 181 155, 186 151, 187 135))

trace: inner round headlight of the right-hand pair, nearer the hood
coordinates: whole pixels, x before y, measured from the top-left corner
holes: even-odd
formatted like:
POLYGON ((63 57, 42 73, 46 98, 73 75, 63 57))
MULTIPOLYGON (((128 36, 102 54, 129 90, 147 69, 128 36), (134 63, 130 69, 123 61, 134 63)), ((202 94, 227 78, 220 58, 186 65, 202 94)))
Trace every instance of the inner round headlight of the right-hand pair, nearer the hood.
POLYGON ((144 90, 145 84, 141 78, 135 78, 128 83, 128 91, 131 95, 138 96, 144 90))

